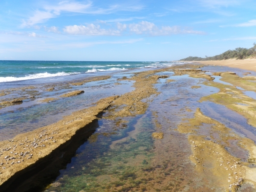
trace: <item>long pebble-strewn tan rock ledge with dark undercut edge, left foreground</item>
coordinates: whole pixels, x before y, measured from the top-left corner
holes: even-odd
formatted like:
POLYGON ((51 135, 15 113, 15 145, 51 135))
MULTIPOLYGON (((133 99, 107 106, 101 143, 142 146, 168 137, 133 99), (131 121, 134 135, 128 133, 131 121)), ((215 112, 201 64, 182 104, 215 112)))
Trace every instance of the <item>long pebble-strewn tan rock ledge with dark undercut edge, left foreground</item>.
MULTIPOLYGON (((52 125, 0 142, 0 191, 17 191, 12 188, 15 187, 13 184, 19 181, 23 181, 24 189, 29 189, 31 186, 25 185, 26 178, 42 171, 45 164, 48 165, 51 161, 56 163, 56 158, 61 159, 65 154, 65 151, 61 152, 61 150, 72 143, 77 133, 82 134, 81 130, 93 133, 96 128, 90 125, 95 124, 97 116, 116 98, 118 96, 101 99, 95 106, 76 111, 52 125)), ((26 190, 20 189, 20 191, 26 190)))

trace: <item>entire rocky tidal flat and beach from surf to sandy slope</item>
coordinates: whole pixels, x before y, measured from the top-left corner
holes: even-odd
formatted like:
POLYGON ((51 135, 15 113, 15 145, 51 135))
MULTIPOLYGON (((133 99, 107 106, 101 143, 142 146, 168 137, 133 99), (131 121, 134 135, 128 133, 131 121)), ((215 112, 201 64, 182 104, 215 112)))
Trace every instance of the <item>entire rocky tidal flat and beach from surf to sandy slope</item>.
POLYGON ((0 191, 255 191, 255 61, 3 82, 0 191))

